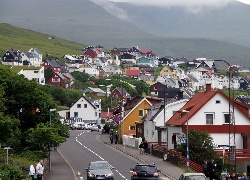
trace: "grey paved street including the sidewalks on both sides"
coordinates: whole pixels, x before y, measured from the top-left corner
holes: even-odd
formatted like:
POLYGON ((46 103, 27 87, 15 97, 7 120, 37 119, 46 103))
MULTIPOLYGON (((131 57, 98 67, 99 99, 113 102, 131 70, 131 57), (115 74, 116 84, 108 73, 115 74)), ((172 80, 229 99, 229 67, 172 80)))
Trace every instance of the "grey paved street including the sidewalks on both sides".
POLYGON ((176 167, 163 162, 161 158, 151 155, 138 155, 138 150, 126 148, 122 145, 110 145, 108 135, 98 135, 98 132, 71 131, 70 138, 63 143, 59 152, 52 152, 52 171, 47 179, 49 180, 78 180, 86 179, 85 168, 89 162, 95 160, 107 160, 115 167, 115 179, 130 179, 129 169, 137 162, 156 163, 157 167, 166 174, 172 173, 175 178, 161 176, 162 179, 177 179, 182 171, 176 167), (61 158, 60 158, 61 157, 61 158), (61 164, 60 164, 61 163, 61 164), (60 169, 58 166, 62 166, 60 169), (68 166, 68 167, 67 167, 68 166), (81 175, 78 176, 78 172, 81 175), (168 172, 168 173, 169 173, 168 172), (61 177, 62 176, 62 177, 61 177))

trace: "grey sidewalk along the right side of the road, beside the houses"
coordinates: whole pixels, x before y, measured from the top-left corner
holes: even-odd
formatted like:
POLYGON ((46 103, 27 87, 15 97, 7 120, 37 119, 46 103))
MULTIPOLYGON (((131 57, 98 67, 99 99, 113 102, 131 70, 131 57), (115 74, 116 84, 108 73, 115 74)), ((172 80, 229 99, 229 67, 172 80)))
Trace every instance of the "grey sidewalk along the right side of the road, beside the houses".
POLYGON ((153 155, 140 155, 140 152, 138 149, 124 146, 122 144, 111 144, 109 140, 109 134, 101 134, 99 135, 100 141, 103 143, 112 146, 113 148, 137 159, 141 163, 148 163, 148 164, 153 164, 158 167, 158 169, 161 170, 161 174, 168 177, 169 179, 179 179, 180 175, 184 173, 184 170, 181 168, 177 167, 176 165, 168 162, 168 161, 163 161, 162 158, 153 156, 153 155))

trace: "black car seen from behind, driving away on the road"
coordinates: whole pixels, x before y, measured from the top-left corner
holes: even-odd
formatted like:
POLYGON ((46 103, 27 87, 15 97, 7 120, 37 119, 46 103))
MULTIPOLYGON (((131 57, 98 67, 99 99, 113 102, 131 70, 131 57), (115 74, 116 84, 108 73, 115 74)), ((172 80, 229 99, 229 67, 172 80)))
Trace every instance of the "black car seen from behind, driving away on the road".
POLYGON ((160 179, 160 170, 157 169, 155 164, 136 164, 135 168, 130 169, 130 172, 132 173, 131 179, 160 179))

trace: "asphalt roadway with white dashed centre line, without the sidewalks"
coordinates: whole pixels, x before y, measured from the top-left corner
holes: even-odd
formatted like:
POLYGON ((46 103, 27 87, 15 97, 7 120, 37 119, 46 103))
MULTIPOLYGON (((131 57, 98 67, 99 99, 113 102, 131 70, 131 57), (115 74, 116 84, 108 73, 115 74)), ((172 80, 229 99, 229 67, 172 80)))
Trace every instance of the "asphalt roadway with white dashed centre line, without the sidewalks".
POLYGON ((116 180, 130 179, 130 168, 136 160, 130 156, 105 145, 97 139, 98 132, 71 131, 67 142, 60 146, 60 152, 72 166, 75 174, 81 173, 79 179, 86 179, 85 168, 91 161, 105 160, 115 167, 116 180))

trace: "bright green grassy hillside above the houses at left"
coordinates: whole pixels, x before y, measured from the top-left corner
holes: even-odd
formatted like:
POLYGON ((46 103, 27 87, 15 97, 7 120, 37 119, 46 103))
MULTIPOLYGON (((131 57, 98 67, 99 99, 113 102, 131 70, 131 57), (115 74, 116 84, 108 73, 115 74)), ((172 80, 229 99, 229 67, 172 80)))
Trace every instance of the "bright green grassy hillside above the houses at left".
POLYGON ((8 49, 28 51, 35 47, 43 53, 44 58, 46 58, 46 54, 61 58, 65 54, 82 54, 81 49, 86 46, 57 37, 49 39, 50 36, 0 23, 0 57, 8 49))

